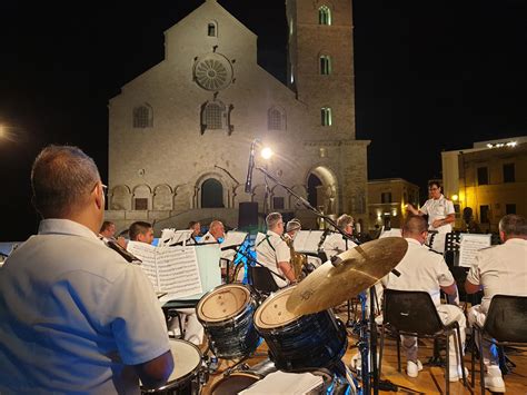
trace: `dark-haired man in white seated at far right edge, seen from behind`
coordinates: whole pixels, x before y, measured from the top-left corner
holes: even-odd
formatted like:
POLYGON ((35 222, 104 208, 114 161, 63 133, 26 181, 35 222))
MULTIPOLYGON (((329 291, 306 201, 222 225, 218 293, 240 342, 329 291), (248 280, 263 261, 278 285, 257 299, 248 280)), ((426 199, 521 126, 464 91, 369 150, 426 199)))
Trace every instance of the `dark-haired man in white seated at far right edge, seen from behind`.
MULTIPOLYGON (((527 296, 527 219, 519 215, 506 215, 499 221, 503 245, 477 253, 476 263, 465 283, 468 294, 483 288, 480 305, 468 312, 468 324, 483 327, 494 295, 527 296)), ((499 369, 498 355, 490 342, 485 342, 483 357, 486 368, 485 386, 496 393, 505 392, 505 382, 499 369)))

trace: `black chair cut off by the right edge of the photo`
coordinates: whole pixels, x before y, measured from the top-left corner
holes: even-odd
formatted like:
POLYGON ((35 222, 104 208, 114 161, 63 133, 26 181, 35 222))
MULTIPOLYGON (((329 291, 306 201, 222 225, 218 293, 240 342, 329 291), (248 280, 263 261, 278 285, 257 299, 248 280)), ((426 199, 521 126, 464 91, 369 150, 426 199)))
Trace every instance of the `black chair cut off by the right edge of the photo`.
MULTIPOLYGON (((473 336, 478 339, 479 368, 481 379, 481 394, 485 394, 484 379, 484 358, 483 340, 484 338, 495 344, 501 349, 505 346, 520 346, 527 344, 527 296, 495 295, 490 300, 485 325, 481 328, 478 325, 473 327, 473 336)), ((471 353, 471 374, 474 387, 474 362, 476 347, 471 353)))

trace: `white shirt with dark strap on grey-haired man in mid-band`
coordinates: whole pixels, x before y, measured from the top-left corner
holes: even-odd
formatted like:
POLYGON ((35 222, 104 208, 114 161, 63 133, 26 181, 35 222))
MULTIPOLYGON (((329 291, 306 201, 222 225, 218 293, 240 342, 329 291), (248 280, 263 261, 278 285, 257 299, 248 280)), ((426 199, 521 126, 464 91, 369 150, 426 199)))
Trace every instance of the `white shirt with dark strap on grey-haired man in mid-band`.
MULTIPOLYGON (((256 239, 256 256, 260 264, 285 277, 277 264, 279 261, 289 261, 291 259, 291 251, 280 235, 268 230, 267 235, 258 234, 256 239)), ((288 285, 288 282, 275 275, 272 275, 272 277, 280 288, 288 285)))

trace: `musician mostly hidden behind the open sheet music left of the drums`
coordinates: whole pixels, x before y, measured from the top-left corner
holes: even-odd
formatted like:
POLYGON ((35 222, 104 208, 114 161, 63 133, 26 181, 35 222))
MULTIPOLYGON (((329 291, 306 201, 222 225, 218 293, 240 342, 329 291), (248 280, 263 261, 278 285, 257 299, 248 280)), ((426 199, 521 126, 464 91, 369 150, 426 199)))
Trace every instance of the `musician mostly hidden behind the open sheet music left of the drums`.
MULTIPOLYGON (((132 241, 146 244, 152 244, 153 241, 153 228, 149 223, 136 221, 130 225, 128 233, 130 235, 130 240, 132 241)), ((203 326, 198 320, 196 309, 178 308, 177 312, 182 315, 181 323, 185 326, 185 339, 196 345, 200 345, 203 340, 203 326)), ((179 328, 178 326, 179 322, 173 319, 168 329, 172 332, 183 330, 183 328, 179 328)))

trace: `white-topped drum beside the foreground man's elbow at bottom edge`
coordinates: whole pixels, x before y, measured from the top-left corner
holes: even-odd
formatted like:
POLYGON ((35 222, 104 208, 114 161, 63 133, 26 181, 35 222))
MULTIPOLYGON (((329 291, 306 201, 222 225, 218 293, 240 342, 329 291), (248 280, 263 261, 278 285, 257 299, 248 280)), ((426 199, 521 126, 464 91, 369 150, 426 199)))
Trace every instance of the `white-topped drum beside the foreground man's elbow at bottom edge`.
POLYGON ((175 367, 167 384, 158 389, 141 387, 141 394, 198 395, 201 352, 192 343, 180 339, 170 339, 170 349, 175 367))

